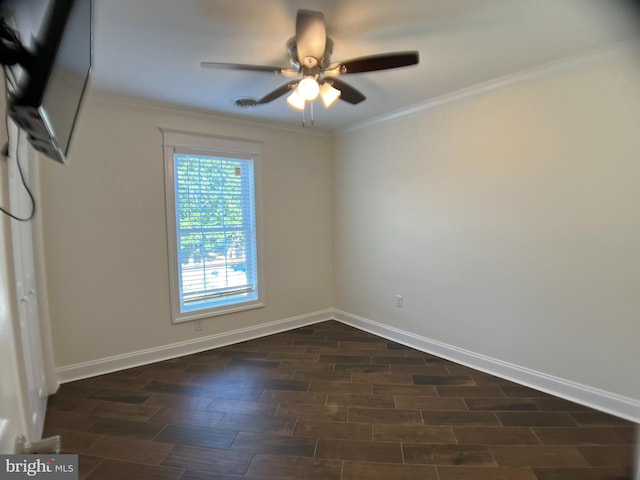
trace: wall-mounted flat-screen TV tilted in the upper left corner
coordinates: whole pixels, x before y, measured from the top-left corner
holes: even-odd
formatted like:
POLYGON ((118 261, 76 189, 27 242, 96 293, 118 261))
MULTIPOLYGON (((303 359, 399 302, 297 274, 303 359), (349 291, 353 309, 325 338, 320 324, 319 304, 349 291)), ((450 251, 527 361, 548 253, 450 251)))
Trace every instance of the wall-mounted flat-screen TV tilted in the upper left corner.
POLYGON ((66 163, 91 72, 92 0, 51 0, 44 14, 42 2, 10 5, 25 55, 11 69, 9 115, 36 150, 66 163))

